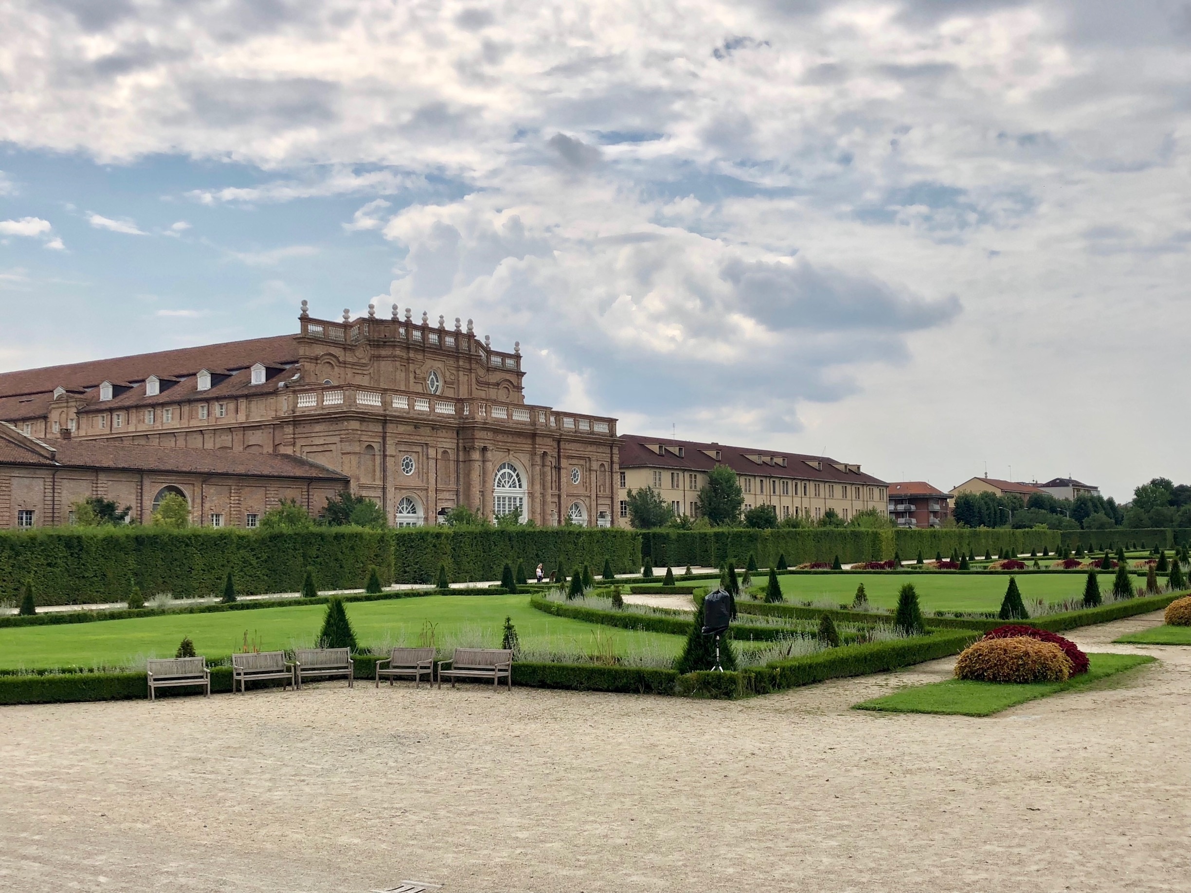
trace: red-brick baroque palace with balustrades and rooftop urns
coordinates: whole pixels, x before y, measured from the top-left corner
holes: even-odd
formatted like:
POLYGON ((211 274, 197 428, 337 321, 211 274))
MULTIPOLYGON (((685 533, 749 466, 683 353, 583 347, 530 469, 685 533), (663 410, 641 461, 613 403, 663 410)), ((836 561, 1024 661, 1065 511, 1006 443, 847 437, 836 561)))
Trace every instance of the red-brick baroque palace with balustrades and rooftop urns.
POLYGON ((472 320, 316 319, 303 301, 297 335, 4 373, 0 526, 66 523, 88 495, 148 520, 167 492, 197 524, 252 526, 348 487, 403 526, 457 505, 610 526, 616 420, 526 404, 522 363, 472 320), (70 494, 32 482, 51 472, 70 494))

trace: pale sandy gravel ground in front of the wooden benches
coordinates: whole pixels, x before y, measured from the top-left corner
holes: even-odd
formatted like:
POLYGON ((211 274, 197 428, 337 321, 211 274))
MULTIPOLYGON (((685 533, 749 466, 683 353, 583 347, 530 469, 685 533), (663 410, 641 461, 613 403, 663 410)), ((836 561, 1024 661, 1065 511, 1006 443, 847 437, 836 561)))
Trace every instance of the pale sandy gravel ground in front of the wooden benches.
POLYGON ((342 683, 0 708, 0 888, 1185 891, 1191 649, 987 719, 342 683))

